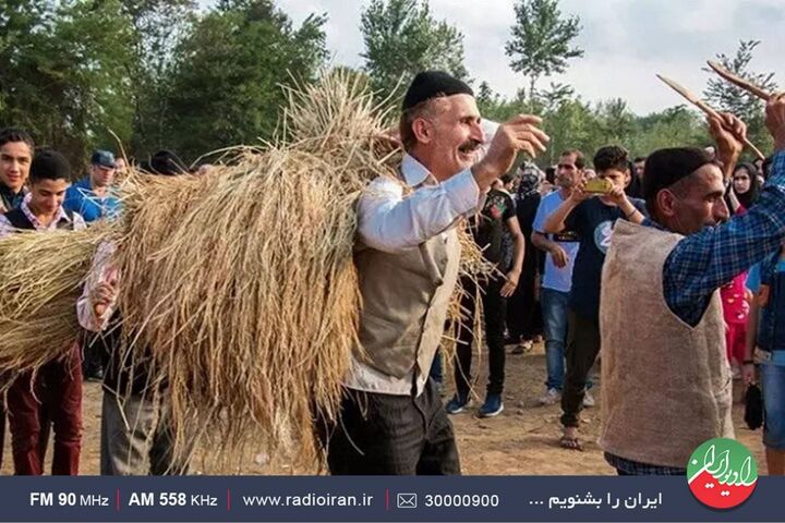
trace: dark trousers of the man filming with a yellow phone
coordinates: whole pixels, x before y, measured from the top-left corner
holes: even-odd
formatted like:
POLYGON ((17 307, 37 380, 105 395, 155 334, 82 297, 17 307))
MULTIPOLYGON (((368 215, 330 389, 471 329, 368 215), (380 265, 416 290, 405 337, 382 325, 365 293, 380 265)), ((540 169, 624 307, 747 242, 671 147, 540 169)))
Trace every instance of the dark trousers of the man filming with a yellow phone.
POLYGON ((565 350, 567 368, 561 391, 561 425, 565 427, 577 427, 579 424, 589 373, 597 354, 600 354, 600 323, 570 309, 565 350))

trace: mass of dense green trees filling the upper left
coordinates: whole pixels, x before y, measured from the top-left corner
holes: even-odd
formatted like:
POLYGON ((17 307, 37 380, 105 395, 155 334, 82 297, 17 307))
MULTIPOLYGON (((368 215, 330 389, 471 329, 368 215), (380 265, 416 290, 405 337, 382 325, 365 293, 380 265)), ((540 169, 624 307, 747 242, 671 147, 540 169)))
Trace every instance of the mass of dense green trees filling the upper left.
POLYGON ((269 138, 281 84, 327 58, 324 16, 300 27, 271 0, 0 2, 0 125, 84 166, 96 147, 193 159, 269 138))

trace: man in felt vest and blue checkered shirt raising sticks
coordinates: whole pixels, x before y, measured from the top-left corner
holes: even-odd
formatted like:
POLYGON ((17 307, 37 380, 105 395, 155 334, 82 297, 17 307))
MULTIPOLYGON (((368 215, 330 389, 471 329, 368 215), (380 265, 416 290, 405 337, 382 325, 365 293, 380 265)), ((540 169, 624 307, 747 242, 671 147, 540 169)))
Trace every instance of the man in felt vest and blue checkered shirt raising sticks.
POLYGON ((620 475, 686 474, 701 443, 734 437, 716 291, 785 239, 785 96, 766 106, 772 173, 744 216, 728 219, 724 195, 746 127, 729 114, 709 124, 716 159, 698 148, 647 159, 651 221, 619 221, 603 268, 600 445, 620 475))

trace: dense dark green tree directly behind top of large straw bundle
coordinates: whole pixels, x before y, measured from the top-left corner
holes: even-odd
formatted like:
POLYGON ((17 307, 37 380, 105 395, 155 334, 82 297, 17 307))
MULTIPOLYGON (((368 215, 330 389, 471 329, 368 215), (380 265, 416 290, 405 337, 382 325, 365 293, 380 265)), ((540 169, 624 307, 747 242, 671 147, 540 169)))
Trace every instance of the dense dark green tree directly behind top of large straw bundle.
POLYGON ((169 146, 183 158, 271 138, 281 85, 307 82, 323 66, 324 16, 299 28, 270 0, 226 0, 178 46, 169 85, 169 146))

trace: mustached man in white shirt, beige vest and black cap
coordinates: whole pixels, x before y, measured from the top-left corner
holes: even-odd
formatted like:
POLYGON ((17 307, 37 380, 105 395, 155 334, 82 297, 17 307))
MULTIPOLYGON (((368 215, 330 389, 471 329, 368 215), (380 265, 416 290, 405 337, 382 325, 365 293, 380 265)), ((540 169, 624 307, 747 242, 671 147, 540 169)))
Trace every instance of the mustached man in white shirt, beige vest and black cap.
POLYGON ((428 380, 458 278, 456 226, 519 151, 545 150, 540 119, 519 115, 485 142, 471 88, 447 73, 413 80, 403 99, 399 180, 358 205, 363 309, 340 419, 324 434, 333 474, 459 474, 452 426, 428 380))

